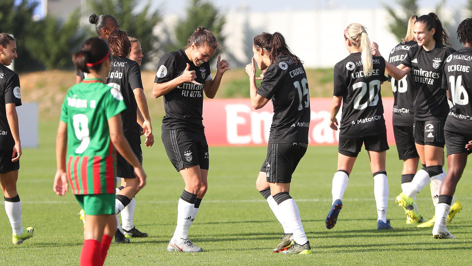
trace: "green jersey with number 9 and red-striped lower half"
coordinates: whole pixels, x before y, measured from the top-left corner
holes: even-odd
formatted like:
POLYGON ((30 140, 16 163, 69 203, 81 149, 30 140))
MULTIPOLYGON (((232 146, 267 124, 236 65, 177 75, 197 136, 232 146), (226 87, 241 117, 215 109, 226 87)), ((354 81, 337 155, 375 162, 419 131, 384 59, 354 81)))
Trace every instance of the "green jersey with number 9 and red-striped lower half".
POLYGON ((75 195, 115 193, 115 147, 108 120, 126 109, 123 96, 100 79, 72 86, 62 104, 67 124, 67 178, 75 195))

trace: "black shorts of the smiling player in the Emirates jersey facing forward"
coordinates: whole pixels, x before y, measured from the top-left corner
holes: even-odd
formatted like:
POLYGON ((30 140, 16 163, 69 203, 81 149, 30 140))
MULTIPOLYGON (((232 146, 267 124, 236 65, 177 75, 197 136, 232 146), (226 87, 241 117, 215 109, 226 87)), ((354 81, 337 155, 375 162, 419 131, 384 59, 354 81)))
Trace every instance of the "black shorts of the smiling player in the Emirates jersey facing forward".
POLYGON ((444 148, 445 120, 414 121, 414 142, 444 148))

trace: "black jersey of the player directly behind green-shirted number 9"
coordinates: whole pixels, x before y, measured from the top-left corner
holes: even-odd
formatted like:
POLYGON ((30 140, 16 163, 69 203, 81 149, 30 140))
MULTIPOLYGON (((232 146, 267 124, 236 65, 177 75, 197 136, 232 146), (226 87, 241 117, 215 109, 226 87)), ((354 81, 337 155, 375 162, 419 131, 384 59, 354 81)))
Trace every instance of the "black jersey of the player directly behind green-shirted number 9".
POLYGON ((134 94, 135 89, 141 90, 141 70, 137 62, 125 57, 110 55, 111 68, 107 77, 107 84, 118 89, 123 95, 126 110, 121 112, 123 134, 128 141, 140 139, 137 123, 138 104, 134 94))

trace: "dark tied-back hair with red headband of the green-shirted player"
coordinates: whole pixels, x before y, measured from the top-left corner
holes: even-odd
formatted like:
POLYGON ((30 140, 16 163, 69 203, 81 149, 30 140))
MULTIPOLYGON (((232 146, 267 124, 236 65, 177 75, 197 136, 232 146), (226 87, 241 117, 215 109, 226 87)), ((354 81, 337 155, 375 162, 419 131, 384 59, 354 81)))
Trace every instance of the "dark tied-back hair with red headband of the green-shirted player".
POLYGON ((82 44, 81 50, 72 55, 72 61, 77 69, 90 73, 90 69, 100 70, 104 59, 109 55, 110 48, 103 39, 94 37, 82 44), (92 64, 92 66, 87 66, 92 64))

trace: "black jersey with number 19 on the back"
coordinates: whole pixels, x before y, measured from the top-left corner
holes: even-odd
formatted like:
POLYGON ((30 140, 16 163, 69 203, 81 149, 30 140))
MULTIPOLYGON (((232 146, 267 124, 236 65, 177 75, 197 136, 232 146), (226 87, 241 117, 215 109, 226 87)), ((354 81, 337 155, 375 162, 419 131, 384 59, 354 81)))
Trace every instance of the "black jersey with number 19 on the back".
POLYGON ((310 97, 306 72, 300 62, 282 54, 264 75, 257 94, 272 99, 269 143, 306 143, 310 127, 310 97))

